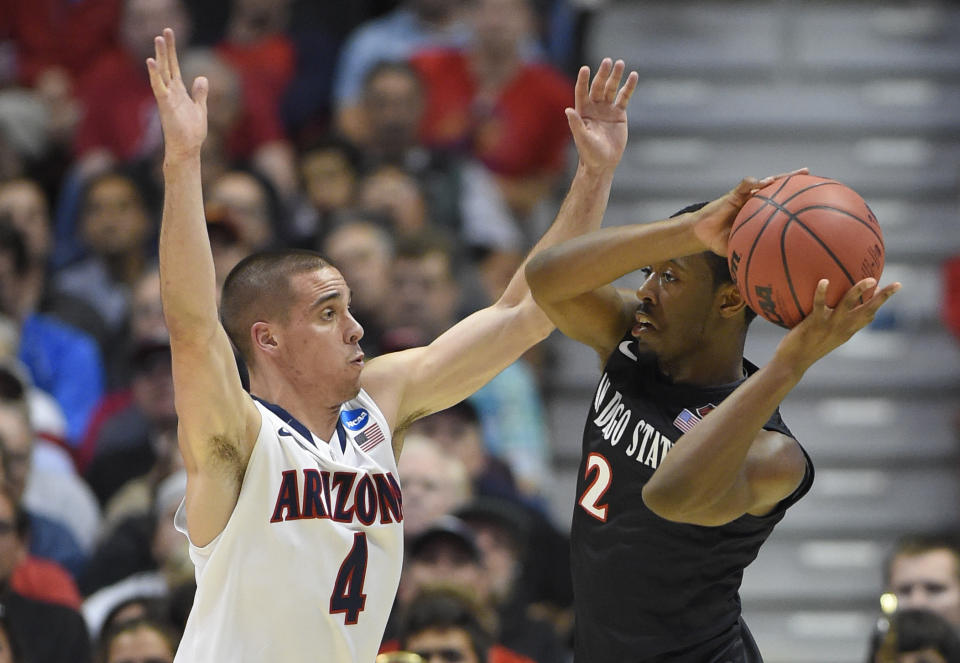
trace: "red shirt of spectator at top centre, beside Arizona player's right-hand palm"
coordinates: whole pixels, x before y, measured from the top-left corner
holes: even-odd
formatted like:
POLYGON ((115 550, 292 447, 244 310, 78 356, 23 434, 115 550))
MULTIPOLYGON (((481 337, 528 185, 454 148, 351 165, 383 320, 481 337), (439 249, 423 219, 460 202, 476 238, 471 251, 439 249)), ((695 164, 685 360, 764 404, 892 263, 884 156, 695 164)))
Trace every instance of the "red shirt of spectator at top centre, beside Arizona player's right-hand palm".
POLYGON ((411 64, 426 91, 421 137, 427 145, 464 149, 500 175, 563 169, 570 135, 563 111, 573 106, 573 84, 558 71, 524 63, 490 107, 483 108, 465 53, 423 51, 411 64))

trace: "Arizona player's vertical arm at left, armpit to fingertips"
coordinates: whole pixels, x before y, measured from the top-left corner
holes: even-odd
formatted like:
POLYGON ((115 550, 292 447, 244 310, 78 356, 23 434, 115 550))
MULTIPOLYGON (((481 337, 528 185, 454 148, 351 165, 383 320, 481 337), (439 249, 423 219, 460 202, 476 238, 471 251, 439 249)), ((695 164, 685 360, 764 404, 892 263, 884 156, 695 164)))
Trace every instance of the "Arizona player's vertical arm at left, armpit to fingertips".
POLYGON ((203 215, 200 148, 207 133, 206 78, 187 93, 174 34, 147 60, 164 136, 160 283, 170 330, 179 445, 187 470, 187 523, 204 545, 226 525, 240 491, 260 415, 243 391, 217 315, 213 256, 203 215))

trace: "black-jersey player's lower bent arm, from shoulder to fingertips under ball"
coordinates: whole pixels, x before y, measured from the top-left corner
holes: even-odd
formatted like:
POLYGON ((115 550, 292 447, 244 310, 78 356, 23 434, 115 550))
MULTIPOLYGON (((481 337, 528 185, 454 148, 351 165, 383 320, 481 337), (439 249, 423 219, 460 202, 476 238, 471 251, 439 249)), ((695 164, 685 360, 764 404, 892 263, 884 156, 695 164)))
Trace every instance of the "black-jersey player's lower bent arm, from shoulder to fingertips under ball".
POLYGON ((643 488, 647 506, 668 520, 722 525, 745 513, 764 515, 790 495, 803 479, 803 452, 795 440, 761 428, 807 369, 873 320, 900 289, 893 283, 871 296, 876 283, 857 283, 831 309, 821 281, 812 312, 770 362, 674 443, 643 488))

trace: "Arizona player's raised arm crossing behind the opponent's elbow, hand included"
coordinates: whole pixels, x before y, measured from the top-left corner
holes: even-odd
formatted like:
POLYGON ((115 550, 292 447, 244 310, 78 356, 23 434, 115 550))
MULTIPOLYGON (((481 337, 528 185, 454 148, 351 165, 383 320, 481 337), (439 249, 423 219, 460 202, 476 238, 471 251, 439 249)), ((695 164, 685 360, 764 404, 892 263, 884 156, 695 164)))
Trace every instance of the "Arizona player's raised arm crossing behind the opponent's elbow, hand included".
MULTIPOLYGON (((564 204, 531 255, 599 227, 626 145, 626 109, 637 84, 632 72, 620 86, 623 72, 622 61, 606 59, 591 83, 589 68, 581 68, 575 107, 566 111, 580 162, 564 204)), ((552 329, 530 295, 521 266, 495 304, 462 320, 429 346, 374 359, 364 371, 363 385, 391 425, 403 428, 463 400, 552 329)))

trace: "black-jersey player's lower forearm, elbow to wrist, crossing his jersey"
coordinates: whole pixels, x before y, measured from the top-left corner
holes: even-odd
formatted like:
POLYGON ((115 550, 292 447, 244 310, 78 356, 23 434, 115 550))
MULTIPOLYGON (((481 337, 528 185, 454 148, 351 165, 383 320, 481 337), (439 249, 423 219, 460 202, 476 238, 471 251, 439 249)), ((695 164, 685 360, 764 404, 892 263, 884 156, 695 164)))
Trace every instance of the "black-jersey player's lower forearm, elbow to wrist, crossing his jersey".
POLYGON ((726 496, 743 478, 757 434, 802 375, 774 356, 674 443, 644 487, 644 502, 657 513, 682 516, 726 496))

